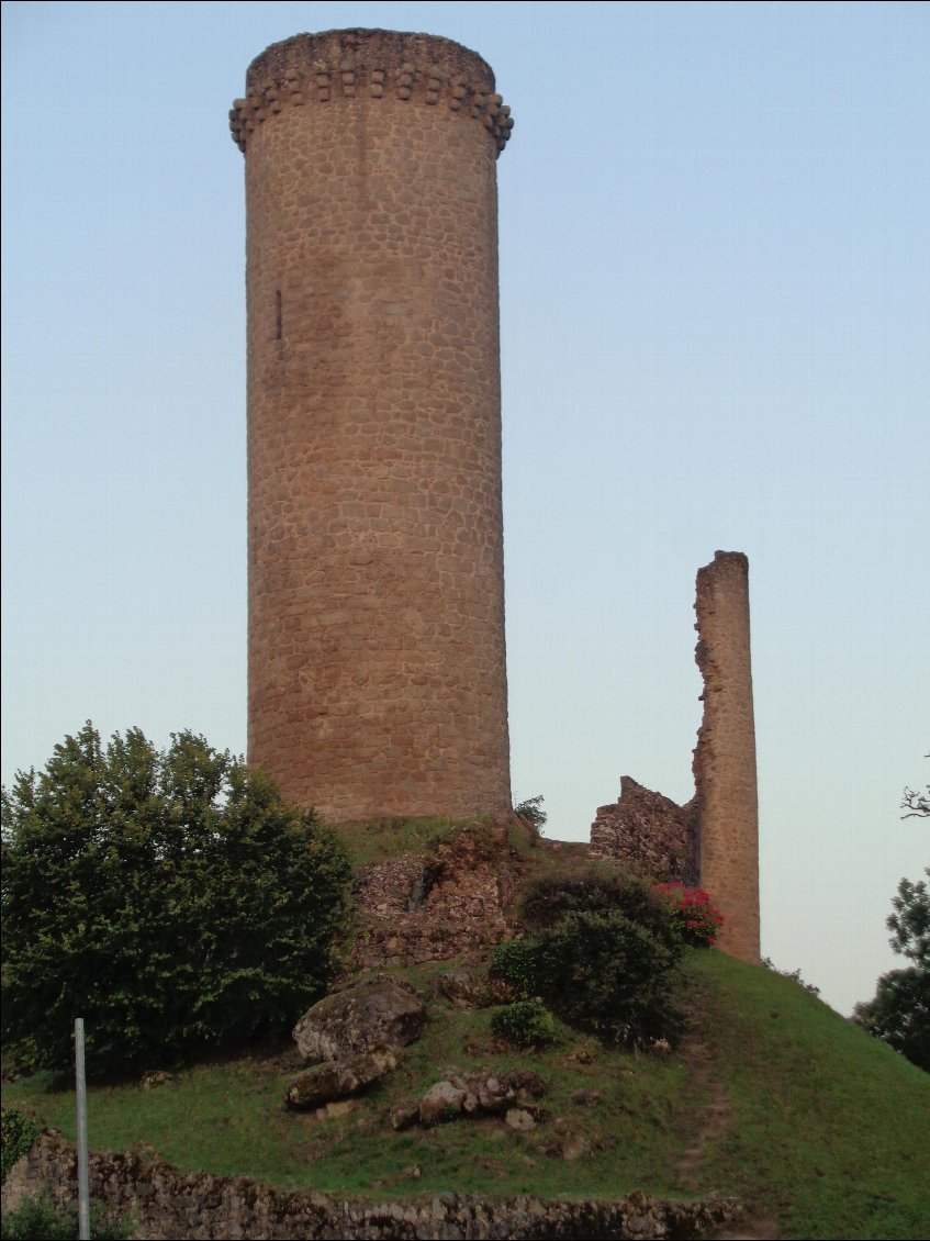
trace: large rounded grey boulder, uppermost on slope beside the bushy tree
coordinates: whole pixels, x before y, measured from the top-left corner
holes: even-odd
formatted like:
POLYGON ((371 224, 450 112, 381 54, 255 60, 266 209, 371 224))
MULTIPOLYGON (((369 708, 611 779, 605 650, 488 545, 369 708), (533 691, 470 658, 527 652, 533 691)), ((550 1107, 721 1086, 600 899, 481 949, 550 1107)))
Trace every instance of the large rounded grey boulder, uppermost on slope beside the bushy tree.
POLYGON ((427 1009, 415 987, 376 974, 314 1004, 294 1026, 305 1060, 346 1060, 419 1039, 427 1009))

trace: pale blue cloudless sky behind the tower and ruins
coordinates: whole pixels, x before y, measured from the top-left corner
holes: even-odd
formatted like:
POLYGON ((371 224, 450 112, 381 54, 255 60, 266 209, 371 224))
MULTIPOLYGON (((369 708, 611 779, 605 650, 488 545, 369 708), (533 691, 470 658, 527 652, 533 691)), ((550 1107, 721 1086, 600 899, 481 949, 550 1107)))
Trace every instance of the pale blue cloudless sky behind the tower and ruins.
POLYGON ((750 558, 763 951, 848 1010, 930 862, 930 6, 4 14, 2 778, 92 719, 246 741, 248 62, 475 48, 500 165, 513 787, 691 795, 694 572, 750 558))

